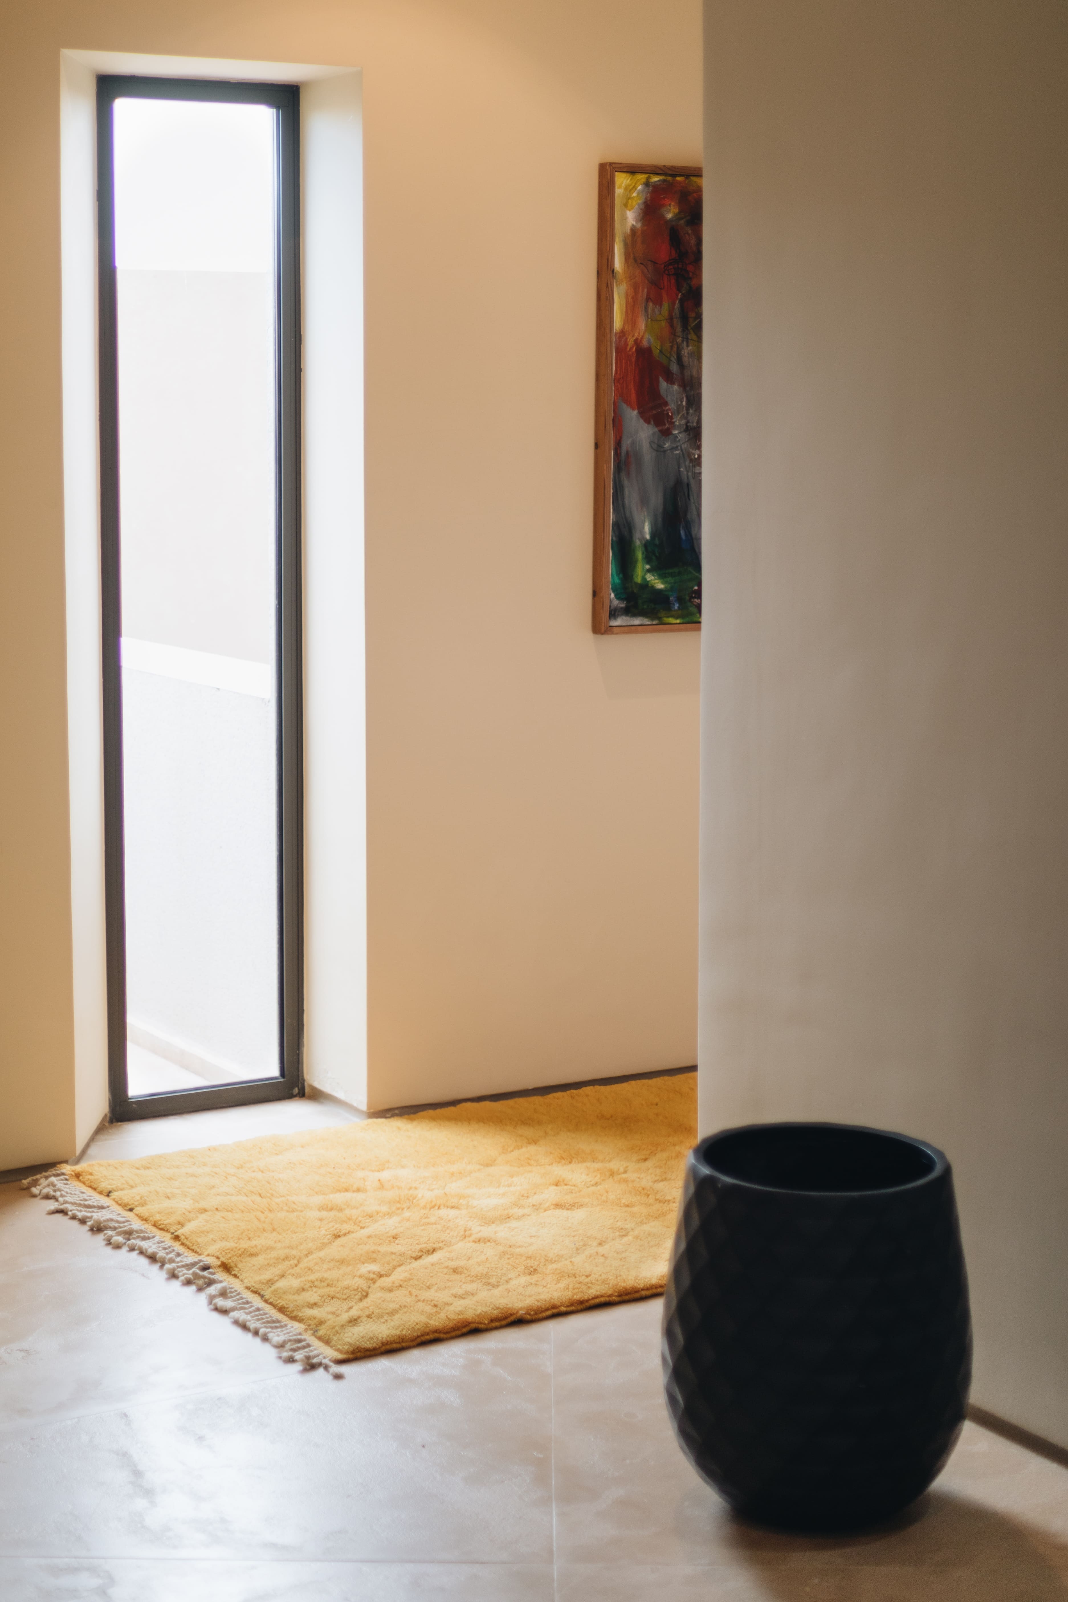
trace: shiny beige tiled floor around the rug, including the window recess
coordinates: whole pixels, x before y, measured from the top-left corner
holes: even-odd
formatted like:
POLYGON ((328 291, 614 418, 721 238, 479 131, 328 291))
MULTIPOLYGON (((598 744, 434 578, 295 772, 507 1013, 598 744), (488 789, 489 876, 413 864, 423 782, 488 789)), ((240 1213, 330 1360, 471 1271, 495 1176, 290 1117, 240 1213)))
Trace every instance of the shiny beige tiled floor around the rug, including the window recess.
MULTIPOLYGON (((141 1155, 327 1102, 104 1129, 141 1155)), ((658 1302, 303 1375, 0 1187, 0 1599, 1068 1602, 1068 1469, 969 1426, 893 1530, 746 1528, 668 1427, 658 1302)))

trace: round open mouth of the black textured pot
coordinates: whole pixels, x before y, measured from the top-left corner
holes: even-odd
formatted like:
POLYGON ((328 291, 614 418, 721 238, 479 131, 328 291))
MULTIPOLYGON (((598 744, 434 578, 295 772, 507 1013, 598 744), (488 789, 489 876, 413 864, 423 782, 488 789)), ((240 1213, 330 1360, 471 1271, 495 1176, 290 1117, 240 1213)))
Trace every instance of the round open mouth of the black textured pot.
POLYGON ((769 1190, 860 1193, 898 1190, 943 1163, 921 1141, 834 1123, 769 1123, 714 1134, 700 1160, 724 1179, 769 1190))

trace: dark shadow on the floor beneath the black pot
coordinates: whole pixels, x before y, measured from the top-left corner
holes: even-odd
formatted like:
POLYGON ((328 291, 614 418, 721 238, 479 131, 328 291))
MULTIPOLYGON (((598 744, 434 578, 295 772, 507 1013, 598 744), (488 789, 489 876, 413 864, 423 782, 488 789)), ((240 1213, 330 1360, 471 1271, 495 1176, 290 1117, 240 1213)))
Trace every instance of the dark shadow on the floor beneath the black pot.
POLYGON ((1065 1602, 1068 1543, 938 1488, 857 1536, 733 1520, 725 1540, 769 1602, 1065 1602))

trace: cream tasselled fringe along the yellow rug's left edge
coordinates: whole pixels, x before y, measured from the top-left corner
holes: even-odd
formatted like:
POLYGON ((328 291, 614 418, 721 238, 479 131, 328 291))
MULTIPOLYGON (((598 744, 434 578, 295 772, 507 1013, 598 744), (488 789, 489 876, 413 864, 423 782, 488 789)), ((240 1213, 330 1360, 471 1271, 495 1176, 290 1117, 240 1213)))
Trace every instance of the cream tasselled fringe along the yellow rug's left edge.
POLYGON ((168 1278, 203 1291, 205 1301, 215 1312, 221 1312, 250 1334, 258 1334, 275 1349, 283 1363, 299 1363, 306 1370, 322 1368, 335 1379, 344 1379, 344 1371, 288 1318, 271 1312, 263 1302, 224 1280, 207 1258, 197 1258, 173 1240, 165 1240, 147 1226, 138 1224, 106 1197, 70 1179, 62 1168, 24 1179, 22 1189, 43 1202, 51 1202, 50 1213, 64 1213, 75 1222, 85 1224, 94 1235, 102 1235, 104 1245, 115 1251, 122 1251, 123 1246, 126 1251, 138 1251, 157 1262, 168 1278))

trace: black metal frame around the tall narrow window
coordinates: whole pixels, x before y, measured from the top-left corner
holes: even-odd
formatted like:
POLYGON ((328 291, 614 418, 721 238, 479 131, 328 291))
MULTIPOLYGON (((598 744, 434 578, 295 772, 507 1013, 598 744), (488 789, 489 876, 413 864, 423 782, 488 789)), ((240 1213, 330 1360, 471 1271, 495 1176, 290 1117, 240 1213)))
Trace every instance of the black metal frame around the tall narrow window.
POLYGON ((110 1117, 173 1113, 304 1094, 303 1065, 303 687, 301 687, 301 293, 299 88, 203 78, 104 75, 96 80, 99 248, 101 641, 104 700, 104 878, 107 1080, 110 1117), (279 817, 279 1075, 205 1089, 130 1096, 122 771, 122 567, 118 519, 118 348, 112 109, 117 99, 269 106, 275 119, 275 706, 279 817))

